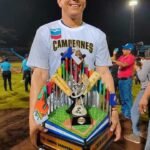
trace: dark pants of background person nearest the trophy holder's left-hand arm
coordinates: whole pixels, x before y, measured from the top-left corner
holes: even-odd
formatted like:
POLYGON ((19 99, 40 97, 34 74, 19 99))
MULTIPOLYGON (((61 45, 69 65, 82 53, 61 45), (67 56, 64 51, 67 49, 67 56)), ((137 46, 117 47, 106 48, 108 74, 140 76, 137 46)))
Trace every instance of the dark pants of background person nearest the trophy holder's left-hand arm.
POLYGON ((23 72, 24 77, 24 85, 25 85, 25 91, 28 91, 28 85, 31 84, 31 71, 24 71, 23 72))

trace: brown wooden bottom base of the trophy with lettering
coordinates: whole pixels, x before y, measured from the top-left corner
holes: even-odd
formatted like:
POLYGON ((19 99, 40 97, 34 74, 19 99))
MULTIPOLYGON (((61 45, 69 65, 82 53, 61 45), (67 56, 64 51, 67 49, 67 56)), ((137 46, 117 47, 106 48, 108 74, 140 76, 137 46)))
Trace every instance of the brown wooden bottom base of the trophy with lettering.
POLYGON ((37 142, 40 148, 46 150, 103 150, 113 142, 113 134, 108 127, 90 143, 80 144, 56 134, 41 132, 37 142))

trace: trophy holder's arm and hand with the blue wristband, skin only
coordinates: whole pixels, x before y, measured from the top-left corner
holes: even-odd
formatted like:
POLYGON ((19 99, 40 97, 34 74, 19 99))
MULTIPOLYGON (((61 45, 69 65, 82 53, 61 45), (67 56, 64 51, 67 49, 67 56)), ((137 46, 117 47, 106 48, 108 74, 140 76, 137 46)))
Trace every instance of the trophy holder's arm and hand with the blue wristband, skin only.
MULTIPOLYGON (((100 73, 102 81, 106 84, 106 87, 110 91, 110 93, 115 93, 114 81, 112 75, 109 71, 108 67, 96 67, 97 72, 100 73)), ((115 107, 112 108, 112 116, 111 116, 112 125, 110 127, 110 131, 114 131, 116 138, 114 141, 117 141, 121 137, 121 126, 119 122, 119 116, 117 109, 115 107)))

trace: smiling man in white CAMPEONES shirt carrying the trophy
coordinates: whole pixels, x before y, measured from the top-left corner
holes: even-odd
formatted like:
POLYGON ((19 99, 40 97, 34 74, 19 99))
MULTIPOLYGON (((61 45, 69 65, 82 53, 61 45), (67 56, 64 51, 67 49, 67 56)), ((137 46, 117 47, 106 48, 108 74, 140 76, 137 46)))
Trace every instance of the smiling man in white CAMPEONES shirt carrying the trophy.
MULTIPOLYGON (((61 20, 40 27, 34 38, 28 65, 33 67, 30 92, 30 137, 36 145, 37 132, 47 130, 37 125, 33 119, 34 106, 41 87, 61 64, 61 53, 68 47, 79 49, 86 55, 85 62, 90 68, 100 73, 110 92, 114 93, 114 83, 108 66, 111 60, 108 52, 106 36, 99 29, 83 22, 83 11, 86 0, 57 0, 62 10, 61 20)), ((120 138, 120 123, 116 109, 112 111, 111 131, 116 134, 115 141, 120 138)))

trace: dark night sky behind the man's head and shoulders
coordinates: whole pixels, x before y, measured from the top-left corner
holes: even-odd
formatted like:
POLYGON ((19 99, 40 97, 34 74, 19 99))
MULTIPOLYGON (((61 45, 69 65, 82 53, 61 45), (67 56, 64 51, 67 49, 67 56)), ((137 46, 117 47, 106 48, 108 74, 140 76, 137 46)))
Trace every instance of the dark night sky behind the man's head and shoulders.
MULTIPOLYGON (((87 0, 84 21, 107 35, 109 48, 130 42, 127 0, 87 0)), ((56 0, 0 0, 0 47, 30 47, 36 29, 60 18, 56 0)), ((150 0, 135 8, 135 42, 150 44, 150 0)))

